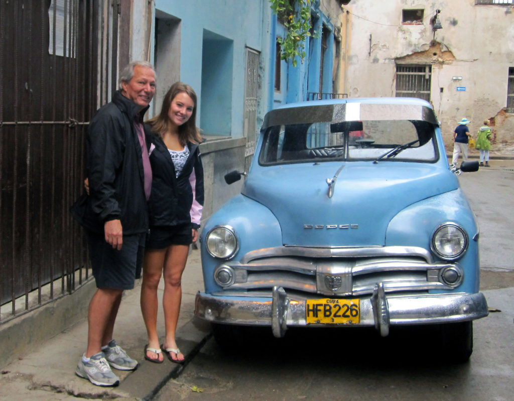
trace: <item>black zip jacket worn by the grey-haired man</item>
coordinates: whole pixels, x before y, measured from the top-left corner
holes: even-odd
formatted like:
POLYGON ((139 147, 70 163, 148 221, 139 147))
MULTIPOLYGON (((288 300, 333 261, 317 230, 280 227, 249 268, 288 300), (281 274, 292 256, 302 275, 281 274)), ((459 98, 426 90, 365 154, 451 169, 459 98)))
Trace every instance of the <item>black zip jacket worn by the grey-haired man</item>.
MULTIPOLYGON (((119 219, 123 235, 148 230, 148 204, 144 195, 141 146, 134 120, 142 122, 148 107, 139 111, 132 100, 117 91, 89 124, 86 167, 89 196, 83 196, 72 213, 87 229, 103 233, 106 221, 119 219)), ((153 135, 144 126, 146 145, 153 135)))

